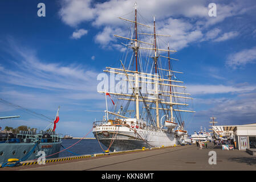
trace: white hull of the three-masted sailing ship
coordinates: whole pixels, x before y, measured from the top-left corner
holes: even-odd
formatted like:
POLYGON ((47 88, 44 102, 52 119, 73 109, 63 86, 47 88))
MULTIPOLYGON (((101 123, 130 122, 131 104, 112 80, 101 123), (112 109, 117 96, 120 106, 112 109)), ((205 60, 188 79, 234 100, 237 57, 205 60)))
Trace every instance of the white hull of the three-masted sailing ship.
POLYGON ((173 132, 161 129, 152 131, 147 129, 132 130, 126 126, 96 126, 93 133, 95 138, 99 139, 111 151, 185 144, 184 137, 176 137, 173 132))

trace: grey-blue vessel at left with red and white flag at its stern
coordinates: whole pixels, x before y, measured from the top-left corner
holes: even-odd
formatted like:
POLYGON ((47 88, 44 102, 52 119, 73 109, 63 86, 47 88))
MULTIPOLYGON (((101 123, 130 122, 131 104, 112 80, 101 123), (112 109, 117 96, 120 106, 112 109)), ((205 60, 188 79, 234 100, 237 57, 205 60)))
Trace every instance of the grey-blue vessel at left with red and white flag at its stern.
MULTIPOLYGON (((1 101, 4 100, 1 99, 1 101)), ((12 117, 2 117, 1 119, 6 118, 12 117)), ((44 129, 44 131, 40 131, 39 133, 36 133, 35 130, 21 130, 19 133, 5 130, 1 131, 0 165, 2 167, 11 165, 9 163, 10 161, 18 164, 25 160, 38 159, 41 155, 46 157, 46 159, 58 158, 58 152, 60 151, 62 144, 61 136, 55 133, 56 123, 59 121, 59 108, 55 119, 52 120, 53 121, 50 123, 52 127, 48 129, 48 131, 45 131, 46 129, 44 129)))

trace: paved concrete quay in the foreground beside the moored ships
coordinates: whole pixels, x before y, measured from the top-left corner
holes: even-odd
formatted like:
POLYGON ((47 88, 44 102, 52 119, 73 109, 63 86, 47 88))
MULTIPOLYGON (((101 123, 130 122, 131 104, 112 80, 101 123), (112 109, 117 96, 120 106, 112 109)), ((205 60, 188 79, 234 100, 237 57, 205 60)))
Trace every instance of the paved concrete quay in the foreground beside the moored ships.
POLYGON ((199 150, 195 145, 164 147, 153 150, 126 152, 61 162, 2 168, 26 171, 180 171, 180 170, 256 170, 256 157, 246 151, 222 150, 208 143, 199 150), (210 151, 216 152, 216 163, 209 164, 210 151))

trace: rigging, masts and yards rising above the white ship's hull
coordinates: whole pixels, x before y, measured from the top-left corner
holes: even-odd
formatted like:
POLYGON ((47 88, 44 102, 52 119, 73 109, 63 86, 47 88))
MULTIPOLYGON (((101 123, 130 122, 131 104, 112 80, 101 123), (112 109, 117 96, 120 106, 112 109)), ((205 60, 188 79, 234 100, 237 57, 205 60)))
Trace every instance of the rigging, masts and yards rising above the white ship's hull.
MULTIPOLYGON (((131 53, 131 59, 120 60, 121 65, 119 68, 106 67, 104 70, 111 77, 119 76, 118 79, 115 79, 119 81, 117 83, 117 85, 119 84, 118 86, 113 86, 112 84, 115 85, 115 81, 110 81, 110 90, 98 90, 99 93, 113 96, 116 103, 114 104, 111 98, 113 105, 111 106, 111 111, 109 111, 107 97, 105 97, 107 110, 105 110, 106 116, 104 121, 108 123, 107 126, 112 126, 113 121, 116 121, 116 119, 118 119, 119 123, 123 123, 123 125, 128 125, 129 127, 135 123, 136 126, 140 125, 142 133, 144 132, 143 130, 147 130, 147 133, 148 130, 159 131, 161 134, 156 133, 156 135, 165 135, 167 138, 172 138, 170 136, 174 136, 174 133, 176 133, 176 137, 186 135, 187 131, 184 129, 182 113, 194 113, 193 110, 184 109, 188 107, 187 101, 192 100, 192 97, 188 97, 190 94, 185 92, 186 86, 180 85, 183 84, 183 81, 178 80, 175 76, 176 74, 182 74, 182 72, 173 71, 172 60, 177 61, 178 59, 173 58, 170 53, 177 51, 170 50, 169 43, 166 45, 167 48, 164 49, 157 42, 157 38, 160 36, 168 37, 170 35, 157 34, 155 16, 153 17, 153 27, 148 26, 147 23, 137 22, 136 4, 135 20, 119 18, 133 24, 131 27, 131 38, 114 35, 121 40, 127 41, 124 44, 127 47, 127 52, 123 57, 127 58, 128 53, 131 53), (153 28, 153 30, 152 32, 148 32, 147 30, 143 32, 143 28, 141 28, 138 32, 139 27, 143 27, 144 29, 153 28), (140 39, 140 36, 143 36, 143 38, 140 39), (152 41, 150 42, 148 40, 152 41), (132 49, 132 52, 129 49, 132 49), (167 55, 162 55, 162 52, 166 52, 167 55), (160 61, 160 57, 165 59, 165 63, 160 61), (166 63, 168 63, 167 66, 166 63), (128 89, 126 82, 128 82, 128 89), (135 118, 128 117, 128 109, 131 102, 135 104, 135 118), (164 117, 165 123, 162 124, 161 120, 164 117), (177 129, 174 131, 176 126, 177 129), (165 134, 162 135, 163 133, 165 134)), ((95 127, 97 126, 99 125, 95 125, 95 127)), ((113 129, 113 127, 109 128, 113 129)), ((94 134, 99 137, 99 133, 103 131, 97 132, 97 130, 102 129, 108 130, 108 127, 96 128, 94 134)), ((120 135, 122 134, 120 133, 120 135)), ((127 139, 132 138, 129 134, 125 135, 128 135, 127 139)), ((101 142, 103 139, 107 139, 105 137, 101 138, 101 142)), ((149 138, 151 137, 147 134, 143 140, 149 142, 151 140, 149 138)), ((155 143, 161 143, 159 139, 156 140, 157 142, 155 141, 155 143)), ((168 143, 167 140, 164 143, 168 143)))

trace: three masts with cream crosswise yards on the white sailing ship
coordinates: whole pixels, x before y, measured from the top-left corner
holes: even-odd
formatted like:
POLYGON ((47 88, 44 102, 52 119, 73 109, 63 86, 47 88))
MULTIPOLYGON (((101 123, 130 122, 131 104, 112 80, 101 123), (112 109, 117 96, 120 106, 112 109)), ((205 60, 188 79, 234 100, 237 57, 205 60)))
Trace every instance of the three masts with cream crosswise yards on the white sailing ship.
MULTIPOLYGON (((139 103, 143 102, 145 107, 142 107, 142 108, 145 108, 147 110, 147 114, 148 114, 148 117, 149 117, 150 121, 157 128, 160 128, 160 119, 159 119, 160 118, 160 112, 159 112, 159 110, 168 110, 168 112, 170 110, 170 115, 171 115, 172 121, 174 121, 173 111, 194 112, 194 111, 190 111, 190 110, 173 109, 173 105, 188 106, 188 104, 186 104, 186 103, 172 102, 173 101, 173 97, 189 98, 189 99, 192 99, 192 98, 174 95, 174 94, 185 94, 185 95, 187 95, 188 93, 173 92, 173 88, 186 88, 186 86, 181 86, 181 85, 177 85, 177 84, 173 85, 172 84, 174 82, 181 82, 182 83, 182 81, 177 81, 177 80, 172 80, 171 79, 171 75, 172 75, 173 72, 175 72, 175 73, 182 73, 182 72, 177 72, 177 71, 172 71, 171 70, 170 59, 173 59, 173 58, 170 57, 169 52, 177 52, 177 51, 169 50, 169 45, 168 45, 168 49, 157 48, 156 36, 170 36, 170 35, 156 34, 155 16, 154 16, 154 24, 153 24, 154 25, 154 33, 153 34, 138 32, 138 30, 137 30, 137 26, 138 25, 139 26, 144 26, 144 27, 149 27, 149 28, 151 28, 151 27, 147 26, 145 24, 137 22, 137 4, 136 3, 135 3, 135 20, 129 20, 129 19, 121 18, 121 17, 119 17, 119 18, 122 19, 122 20, 128 21, 128 22, 134 23, 133 24, 134 30, 132 31, 132 37, 131 38, 125 38, 125 37, 119 36, 119 35, 114 35, 114 36, 116 36, 117 38, 121 38, 121 39, 131 40, 131 43, 129 43, 131 46, 128 46, 128 45, 125 45, 125 46, 127 46, 128 48, 132 48, 133 49, 133 55, 135 56, 134 57, 135 60, 133 60, 133 61, 135 61, 135 69, 133 71, 125 69, 122 61, 120 60, 123 69, 106 67, 107 70, 104 70, 104 72, 114 73, 114 74, 126 76, 127 80, 124 80, 124 81, 128 81, 129 82, 129 85, 131 86, 133 93, 132 94, 129 94, 129 93, 125 94, 125 93, 109 92, 109 94, 114 94, 116 96, 121 96, 121 97, 118 97, 119 100, 134 101, 135 104, 136 104, 136 119, 137 120, 140 119, 139 103), (138 40, 138 35, 139 34, 153 36, 154 42, 153 43, 148 43, 148 42, 143 42, 141 40, 138 40), (148 44, 148 45, 151 45, 152 47, 149 48, 149 47, 145 47, 145 46, 140 46, 141 44, 148 44), (140 70, 140 68, 138 67, 139 66, 138 65, 139 49, 155 51, 155 57, 152 57, 153 61, 154 61, 153 64, 155 64, 155 71, 153 71, 154 73, 139 72, 139 70, 140 70), (166 57, 166 58, 169 59, 169 69, 162 69, 162 68, 158 67, 159 65, 157 64, 157 59, 161 55, 158 55, 157 51, 166 51, 166 52, 168 52, 168 57, 166 57), (169 78, 165 79, 165 78, 161 77, 159 75, 159 73, 157 73, 158 69, 169 72, 169 78), (155 97, 143 96, 141 94, 141 92, 140 92, 140 84, 143 84, 143 83, 155 84, 155 89, 154 89, 155 97), (170 86, 170 90, 165 91, 165 90, 162 89, 162 87, 160 89, 159 85, 161 85, 161 86, 170 86), (165 93, 167 93, 167 94, 165 94, 165 93), (160 98, 160 96, 169 96, 170 97, 170 101, 165 101, 165 98, 160 98), (129 97, 129 98, 125 98, 125 97, 129 97), (148 105, 147 103, 152 103, 152 104, 154 103, 154 104, 156 104, 156 107, 150 107, 149 108, 147 106, 148 105), (162 107, 159 107, 159 104, 161 104, 162 107), (169 105, 170 107, 169 108, 164 108, 163 105, 169 105), (149 111, 149 109, 156 109, 156 120, 152 118, 151 111, 149 111)), ((165 56, 161 56, 161 57, 165 57, 165 56)), ((173 59, 173 60, 177 60, 177 59, 173 59)), ((98 92, 105 93, 106 91, 105 92, 98 91, 98 92)), ((116 113, 112 113, 110 111, 107 111, 107 113, 108 114, 112 114, 112 115, 116 115, 117 117, 127 118, 127 117, 125 117, 125 114, 124 115, 119 114, 119 113, 116 114, 116 113)))

